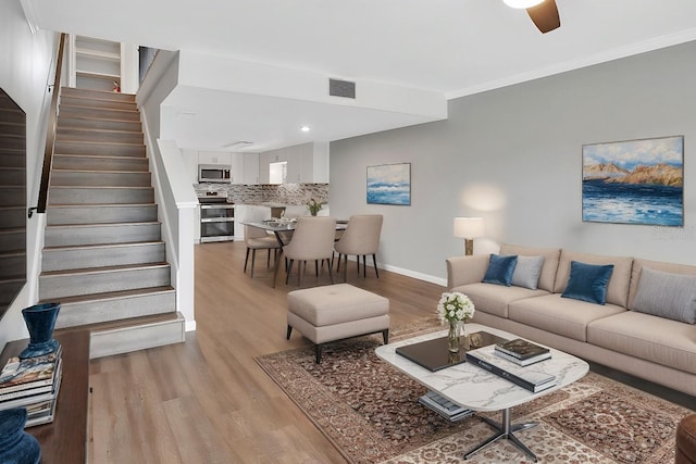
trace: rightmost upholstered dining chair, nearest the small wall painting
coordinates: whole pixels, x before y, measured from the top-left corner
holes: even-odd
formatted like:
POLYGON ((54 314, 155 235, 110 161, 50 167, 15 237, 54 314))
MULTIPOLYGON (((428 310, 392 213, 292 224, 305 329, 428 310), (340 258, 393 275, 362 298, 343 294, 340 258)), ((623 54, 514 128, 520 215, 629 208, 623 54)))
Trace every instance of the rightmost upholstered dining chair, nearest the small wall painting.
POLYGON ((338 253, 338 265, 336 272, 340 269, 340 259, 344 258, 344 280, 348 279, 348 255, 355 254, 360 275, 360 256, 362 256, 362 275, 368 276, 366 255, 372 255, 374 273, 380 278, 377 271, 377 251, 380 249, 380 235, 382 233, 382 214, 355 214, 348 220, 346 231, 334 244, 338 253))

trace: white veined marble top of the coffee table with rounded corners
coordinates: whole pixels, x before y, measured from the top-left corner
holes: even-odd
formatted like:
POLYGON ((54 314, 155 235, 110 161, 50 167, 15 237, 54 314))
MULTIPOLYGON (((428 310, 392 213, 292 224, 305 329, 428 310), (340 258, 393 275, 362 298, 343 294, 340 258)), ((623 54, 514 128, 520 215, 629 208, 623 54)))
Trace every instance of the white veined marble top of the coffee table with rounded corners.
MULTIPOLYGON (((475 331, 487 331, 510 340, 518 338, 513 334, 493 327, 486 327, 481 324, 467 324, 468 334, 475 331)), ((447 330, 421 335, 383 344, 375 352, 382 360, 394 365, 418 383, 472 411, 500 411, 526 403, 542 394, 572 384, 589 371, 589 365, 580 358, 549 348, 551 350, 551 359, 536 363, 534 366, 547 374, 555 375, 557 384, 555 387, 534 393, 469 362, 432 372, 396 353, 398 347, 446 336, 447 330)))

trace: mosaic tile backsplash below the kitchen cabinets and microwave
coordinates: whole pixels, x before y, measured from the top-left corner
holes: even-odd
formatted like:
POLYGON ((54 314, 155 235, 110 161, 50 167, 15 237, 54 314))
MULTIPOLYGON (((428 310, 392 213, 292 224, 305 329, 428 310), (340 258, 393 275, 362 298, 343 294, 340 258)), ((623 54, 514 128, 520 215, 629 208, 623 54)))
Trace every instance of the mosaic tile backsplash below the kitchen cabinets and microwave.
POLYGON ((328 202, 328 184, 195 184, 196 192, 227 192, 227 201, 236 204, 306 204, 312 198, 328 202))

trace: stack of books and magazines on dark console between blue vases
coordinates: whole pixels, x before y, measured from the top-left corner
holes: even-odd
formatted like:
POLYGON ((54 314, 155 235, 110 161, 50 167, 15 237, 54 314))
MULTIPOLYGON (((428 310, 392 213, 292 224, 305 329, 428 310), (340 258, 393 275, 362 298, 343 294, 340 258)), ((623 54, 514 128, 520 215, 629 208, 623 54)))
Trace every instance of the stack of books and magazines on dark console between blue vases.
POLYGON ((26 407, 25 427, 53 422, 61 386, 62 348, 42 356, 10 358, 0 372, 0 411, 26 407))

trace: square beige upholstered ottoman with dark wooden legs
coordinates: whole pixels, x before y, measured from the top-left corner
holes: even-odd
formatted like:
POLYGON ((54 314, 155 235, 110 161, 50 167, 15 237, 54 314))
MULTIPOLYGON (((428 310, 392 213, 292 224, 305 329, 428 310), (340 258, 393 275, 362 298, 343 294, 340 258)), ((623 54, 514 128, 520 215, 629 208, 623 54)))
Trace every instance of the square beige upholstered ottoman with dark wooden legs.
POLYGON ((293 328, 315 344, 316 363, 330 341, 382 333, 389 342, 389 300, 348 284, 306 288, 287 294, 287 339, 293 328))

